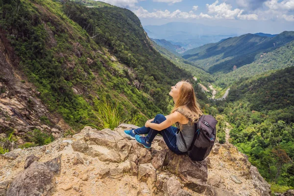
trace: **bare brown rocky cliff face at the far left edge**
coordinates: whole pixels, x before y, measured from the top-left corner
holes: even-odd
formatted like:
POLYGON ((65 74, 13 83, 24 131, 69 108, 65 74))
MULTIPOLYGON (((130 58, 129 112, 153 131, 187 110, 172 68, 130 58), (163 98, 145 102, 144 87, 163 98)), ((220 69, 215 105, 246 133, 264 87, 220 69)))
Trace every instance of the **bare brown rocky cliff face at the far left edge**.
MULTIPOLYGON (((62 136, 62 130, 71 129, 59 115, 51 114, 38 98, 36 87, 19 71, 19 60, 5 33, 0 31, 0 134, 14 129, 18 136, 34 129, 62 136), (48 123, 40 119, 46 119, 48 123)), ((4 136, 5 137, 5 136, 4 136)), ((19 144, 23 139, 18 140, 19 144)))

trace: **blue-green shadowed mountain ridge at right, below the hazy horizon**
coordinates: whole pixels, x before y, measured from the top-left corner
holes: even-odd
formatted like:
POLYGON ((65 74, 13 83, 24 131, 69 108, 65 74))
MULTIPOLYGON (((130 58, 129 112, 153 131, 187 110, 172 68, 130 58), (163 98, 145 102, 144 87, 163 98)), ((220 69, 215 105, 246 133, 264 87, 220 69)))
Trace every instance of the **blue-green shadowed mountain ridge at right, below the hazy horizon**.
POLYGON ((186 51, 183 58, 196 63, 210 73, 229 72, 255 61, 266 53, 294 40, 293 31, 284 31, 275 37, 245 34, 228 38, 217 44, 186 51), (196 53, 192 54, 193 51, 196 53))

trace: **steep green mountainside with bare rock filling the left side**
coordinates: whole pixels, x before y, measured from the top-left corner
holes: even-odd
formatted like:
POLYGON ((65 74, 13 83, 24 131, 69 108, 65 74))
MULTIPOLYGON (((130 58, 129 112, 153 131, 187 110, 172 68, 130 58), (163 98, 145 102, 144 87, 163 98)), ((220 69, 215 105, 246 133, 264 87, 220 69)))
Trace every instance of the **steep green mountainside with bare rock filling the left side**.
POLYGON ((98 1, 0 5, 0 151, 13 148, 2 137, 31 147, 85 124, 109 127, 97 119, 104 101, 121 121, 144 124, 170 111, 172 85, 193 82, 153 49, 127 9, 98 1))

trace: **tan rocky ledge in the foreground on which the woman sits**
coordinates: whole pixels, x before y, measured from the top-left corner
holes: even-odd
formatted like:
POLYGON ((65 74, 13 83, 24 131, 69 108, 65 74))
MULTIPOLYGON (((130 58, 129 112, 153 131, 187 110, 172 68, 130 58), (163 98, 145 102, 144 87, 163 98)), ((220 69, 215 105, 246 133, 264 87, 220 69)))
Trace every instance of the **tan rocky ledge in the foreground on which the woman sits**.
POLYGON ((72 138, 2 155, 0 196, 270 196, 270 185, 233 145, 216 144, 193 162, 158 136, 150 149, 140 146, 123 133, 131 127, 85 127, 72 138))

